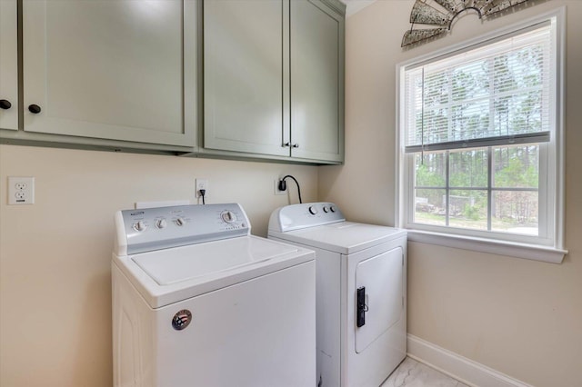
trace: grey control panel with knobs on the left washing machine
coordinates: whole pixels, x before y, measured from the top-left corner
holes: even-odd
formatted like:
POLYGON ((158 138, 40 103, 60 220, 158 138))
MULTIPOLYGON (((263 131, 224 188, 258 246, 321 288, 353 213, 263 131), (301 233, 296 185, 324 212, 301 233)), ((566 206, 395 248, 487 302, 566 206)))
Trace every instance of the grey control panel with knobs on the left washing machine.
POLYGON ((176 205, 115 213, 118 253, 153 250, 250 234, 240 204, 176 205))

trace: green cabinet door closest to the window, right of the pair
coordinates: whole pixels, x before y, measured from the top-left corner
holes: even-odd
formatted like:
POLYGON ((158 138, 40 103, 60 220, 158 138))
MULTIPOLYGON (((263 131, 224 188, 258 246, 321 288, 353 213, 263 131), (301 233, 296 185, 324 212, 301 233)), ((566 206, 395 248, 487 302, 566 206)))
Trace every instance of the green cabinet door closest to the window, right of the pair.
POLYGON ((291 1, 292 155, 343 161, 344 17, 319 1, 291 1))

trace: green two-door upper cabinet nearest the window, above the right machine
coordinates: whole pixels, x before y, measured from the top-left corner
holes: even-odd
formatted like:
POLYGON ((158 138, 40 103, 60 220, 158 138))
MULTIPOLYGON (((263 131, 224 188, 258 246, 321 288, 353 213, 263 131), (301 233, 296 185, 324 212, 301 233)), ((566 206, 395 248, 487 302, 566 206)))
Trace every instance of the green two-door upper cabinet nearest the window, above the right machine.
POLYGON ((206 0, 202 152, 341 163, 344 12, 335 0, 206 0))

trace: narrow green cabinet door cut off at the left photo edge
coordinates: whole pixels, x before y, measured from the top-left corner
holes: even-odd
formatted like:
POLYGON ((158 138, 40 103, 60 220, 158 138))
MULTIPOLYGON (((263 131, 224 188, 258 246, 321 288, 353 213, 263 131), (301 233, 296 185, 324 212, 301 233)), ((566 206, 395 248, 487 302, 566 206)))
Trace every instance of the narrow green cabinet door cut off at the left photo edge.
POLYGON ((16 0, 0 0, 0 129, 18 129, 16 0))

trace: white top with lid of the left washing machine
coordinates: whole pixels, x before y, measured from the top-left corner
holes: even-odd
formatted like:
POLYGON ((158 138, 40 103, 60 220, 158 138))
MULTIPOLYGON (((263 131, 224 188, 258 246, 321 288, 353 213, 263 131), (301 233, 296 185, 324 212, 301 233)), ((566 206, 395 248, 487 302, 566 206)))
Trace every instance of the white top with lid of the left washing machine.
POLYGON ((156 309, 315 259, 301 247, 249 235, 134 255, 113 255, 156 309))

